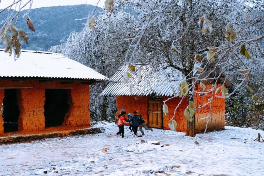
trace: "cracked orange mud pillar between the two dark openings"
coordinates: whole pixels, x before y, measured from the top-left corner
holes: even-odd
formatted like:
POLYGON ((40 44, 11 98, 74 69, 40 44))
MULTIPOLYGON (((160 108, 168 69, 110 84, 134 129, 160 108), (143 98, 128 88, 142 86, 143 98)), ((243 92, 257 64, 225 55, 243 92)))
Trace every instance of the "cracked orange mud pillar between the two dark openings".
POLYGON ((40 131, 45 129, 45 89, 18 89, 18 131, 40 131))

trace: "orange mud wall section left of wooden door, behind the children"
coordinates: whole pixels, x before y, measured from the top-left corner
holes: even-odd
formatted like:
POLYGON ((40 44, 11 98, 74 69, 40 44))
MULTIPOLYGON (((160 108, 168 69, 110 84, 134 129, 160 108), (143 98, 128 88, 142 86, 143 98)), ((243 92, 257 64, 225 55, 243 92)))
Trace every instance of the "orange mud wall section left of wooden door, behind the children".
POLYGON ((145 120, 145 124, 148 124, 148 97, 138 96, 117 96, 116 97, 117 112, 116 116, 120 113, 121 109, 126 110, 127 114, 136 110, 139 110, 145 120))

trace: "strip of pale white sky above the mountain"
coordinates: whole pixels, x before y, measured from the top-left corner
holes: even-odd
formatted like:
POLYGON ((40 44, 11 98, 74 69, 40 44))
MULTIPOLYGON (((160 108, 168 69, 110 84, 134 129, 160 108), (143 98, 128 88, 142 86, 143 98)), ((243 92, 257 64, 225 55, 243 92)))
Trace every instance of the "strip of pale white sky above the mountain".
MULTIPOLYGON (((0 9, 4 9, 13 3, 13 0, 0 0, 0 1, 1 1, 0 9)), ((18 1, 18 0, 15 0, 15 1, 18 1)), ((28 0, 22 0, 21 6, 22 4, 25 4, 27 1, 28 0)), ((40 8, 40 7, 67 6, 67 5, 86 4, 86 3, 94 5, 94 6, 96 6, 96 4, 98 3, 98 6, 103 8, 104 1, 105 0, 33 0, 32 9, 40 8)), ((28 9, 28 8, 29 8, 29 4, 25 6, 25 8, 23 9, 28 9)))

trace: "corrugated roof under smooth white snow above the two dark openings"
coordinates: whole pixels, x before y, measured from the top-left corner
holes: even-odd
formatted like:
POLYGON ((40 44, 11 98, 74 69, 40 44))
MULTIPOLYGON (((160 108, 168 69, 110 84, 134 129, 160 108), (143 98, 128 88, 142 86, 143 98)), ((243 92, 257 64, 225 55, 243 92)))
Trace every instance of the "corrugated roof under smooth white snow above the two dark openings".
POLYGON ((0 77, 108 80, 97 71, 62 54, 21 50, 20 57, 15 61, 14 56, 9 56, 3 49, 0 49, 0 77))

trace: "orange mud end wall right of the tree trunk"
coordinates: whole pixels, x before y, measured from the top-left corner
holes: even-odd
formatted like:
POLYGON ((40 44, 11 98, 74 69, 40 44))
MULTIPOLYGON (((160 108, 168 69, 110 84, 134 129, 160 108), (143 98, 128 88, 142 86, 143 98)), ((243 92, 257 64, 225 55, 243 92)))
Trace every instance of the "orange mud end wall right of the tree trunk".
MULTIPOLYGON (((220 87, 221 85, 218 84, 217 87, 220 87)), ((206 89, 211 89, 211 85, 206 85, 206 89)), ((215 96, 214 92, 209 92, 207 94, 201 94, 199 92, 203 92, 202 88, 197 84, 194 89, 197 93, 194 93, 194 104, 196 107, 195 110, 195 117, 196 117, 196 131, 202 132, 205 130, 205 126, 207 121, 208 126, 207 130, 221 130, 225 127, 225 99, 219 98, 215 96), (213 94, 213 100, 211 103, 207 104, 206 106, 198 109, 200 105, 203 105, 204 103, 208 102, 208 99, 211 99, 211 96, 213 94), (209 119, 200 119, 204 118, 206 116, 209 116, 210 113, 210 104, 211 104, 211 117, 209 119)), ((221 90, 217 94, 218 96, 221 96, 221 90)))

